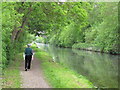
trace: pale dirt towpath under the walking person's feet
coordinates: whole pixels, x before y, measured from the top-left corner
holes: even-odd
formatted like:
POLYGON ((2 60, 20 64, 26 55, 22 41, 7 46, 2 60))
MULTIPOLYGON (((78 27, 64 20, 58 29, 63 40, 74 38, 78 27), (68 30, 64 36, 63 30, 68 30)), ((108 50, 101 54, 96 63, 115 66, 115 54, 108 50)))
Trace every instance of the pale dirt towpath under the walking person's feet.
POLYGON ((40 68, 40 61, 34 58, 31 69, 24 71, 24 61, 20 67, 23 79, 22 88, 50 88, 40 68))

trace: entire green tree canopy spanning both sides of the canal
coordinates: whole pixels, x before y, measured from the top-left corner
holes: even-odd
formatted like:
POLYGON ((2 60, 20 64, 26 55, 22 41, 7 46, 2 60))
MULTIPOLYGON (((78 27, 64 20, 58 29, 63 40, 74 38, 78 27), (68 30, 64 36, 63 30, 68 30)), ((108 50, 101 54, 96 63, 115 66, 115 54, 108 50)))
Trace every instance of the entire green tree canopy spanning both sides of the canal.
POLYGON ((79 48, 86 44, 119 52, 118 3, 3 2, 3 66, 40 32, 46 35, 45 43, 56 46, 79 48))

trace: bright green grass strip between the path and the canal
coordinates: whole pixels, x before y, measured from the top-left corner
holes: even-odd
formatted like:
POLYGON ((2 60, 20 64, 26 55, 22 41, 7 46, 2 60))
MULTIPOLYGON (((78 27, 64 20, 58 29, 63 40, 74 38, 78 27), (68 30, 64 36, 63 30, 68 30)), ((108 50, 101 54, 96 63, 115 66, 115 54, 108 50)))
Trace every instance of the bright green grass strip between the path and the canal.
POLYGON ((41 61, 44 75, 53 88, 93 88, 93 84, 82 75, 75 73, 69 68, 53 62, 52 57, 36 48, 35 57, 41 61))

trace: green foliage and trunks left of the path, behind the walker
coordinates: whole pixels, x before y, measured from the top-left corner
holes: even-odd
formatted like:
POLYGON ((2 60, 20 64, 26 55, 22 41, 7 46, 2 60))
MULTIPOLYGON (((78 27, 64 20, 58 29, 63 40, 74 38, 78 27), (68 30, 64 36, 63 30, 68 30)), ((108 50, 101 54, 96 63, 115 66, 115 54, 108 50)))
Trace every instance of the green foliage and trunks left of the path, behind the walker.
MULTIPOLYGON (((15 2, 2 3, 2 68, 6 67, 22 50, 23 45, 31 40, 26 30, 17 35, 20 31, 17 28, 22 25, 23 13, 19 13, 15 7, 15 2)), ((28 29, 27 26, 24 29, 28 29)))

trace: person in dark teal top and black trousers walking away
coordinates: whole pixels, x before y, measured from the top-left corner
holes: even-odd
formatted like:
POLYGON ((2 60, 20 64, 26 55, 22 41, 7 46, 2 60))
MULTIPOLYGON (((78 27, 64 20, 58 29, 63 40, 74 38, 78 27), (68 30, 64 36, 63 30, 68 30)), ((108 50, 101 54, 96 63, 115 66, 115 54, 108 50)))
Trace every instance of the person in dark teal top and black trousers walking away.
POLYGON ((32 55, 32 48, 30 48, 30 44, 28 44, 27 48, 25 49, 25 71, 27 71, 27 69, 30 69, 32 55))

